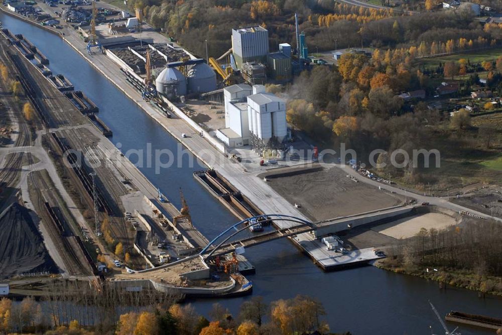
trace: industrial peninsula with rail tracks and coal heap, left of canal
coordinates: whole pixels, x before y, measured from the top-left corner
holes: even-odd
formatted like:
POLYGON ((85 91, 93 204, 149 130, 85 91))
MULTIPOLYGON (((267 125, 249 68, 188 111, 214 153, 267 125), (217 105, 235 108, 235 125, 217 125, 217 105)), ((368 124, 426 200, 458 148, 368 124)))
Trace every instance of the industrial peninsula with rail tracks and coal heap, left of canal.
MULTIPOLYGON (((178 210, 106 139, 111 134, 103 133, 106 125, 99 123, 98 108, 90 99, 70 90, 64 76, 36 71, 16 43, 9 46, 4 38, 0 43, 1 61, 34 107, 30 121, 37 121, 28 122, 19 104, 9 101, 11 94, 5 95, 2 105, 17 109, 10 115, 12 144, 0 156, 5 158, 0 222, 3 241, 8 241, 1 250, 2 279, 9 279, 12 294, 17 280, 26 276, 99 281, 107 274, 119 280, 120 273, 136 271, 131 269, 176 264, 209 243, 193 227, 182 190, 183 207, 178 210), (33 124, 37 126, 30 131, 33 124), (18 153, 19 146, 23 149, 18 153), (21 172, 21 166, 29 169, 21 172), (118 244, 122 252, 110 255, 109 250, 117 252, 118 244), (117 266, 124 259, 127 267, 117 266)), ((245 258, 239 259, 252 268, 245 258)), ((229 264, 235 265, 231 269, 224 268, 225 262, 221 262, 224 273, 237 272, 239 262, 230 257, 229 264)), ((201 266, 209 269, 204 261, 196 267, 190 264, 181 261, 184 271, 174 265, 162 282, 183 292, 196 285, 201 295, 205 290, 207 295, 234 294, 252 287, 243 276, 237 276, 237 281, 216 276, 211 282, 187 284, 186 272, 197 272, 201 266), (221 286, 223 290, 218 289, 221 286)))

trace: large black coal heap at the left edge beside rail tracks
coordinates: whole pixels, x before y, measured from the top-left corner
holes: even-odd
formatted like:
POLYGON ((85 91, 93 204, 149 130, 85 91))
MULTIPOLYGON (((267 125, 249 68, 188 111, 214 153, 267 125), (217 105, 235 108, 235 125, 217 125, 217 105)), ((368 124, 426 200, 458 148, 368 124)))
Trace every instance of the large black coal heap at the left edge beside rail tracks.
POLYGON ((22 273, 58 273, 25 207, 14 203, 0 214, 0 279, 22 273))

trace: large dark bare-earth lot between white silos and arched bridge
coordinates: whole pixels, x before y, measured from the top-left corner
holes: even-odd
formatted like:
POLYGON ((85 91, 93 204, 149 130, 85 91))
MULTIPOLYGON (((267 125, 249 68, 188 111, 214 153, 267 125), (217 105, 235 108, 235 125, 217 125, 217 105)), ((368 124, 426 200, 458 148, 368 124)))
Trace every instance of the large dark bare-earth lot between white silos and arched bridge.
POLYGON ((295 168, 278 169, 268 173, 267 179, 276 192, 291 204, 299 204, 300 211, 314 221, 388 208, 403 202, 395 194, 355 183, 338 168, 301 174, 295 168), (295 173, 281 175, 288 172, 295 173))

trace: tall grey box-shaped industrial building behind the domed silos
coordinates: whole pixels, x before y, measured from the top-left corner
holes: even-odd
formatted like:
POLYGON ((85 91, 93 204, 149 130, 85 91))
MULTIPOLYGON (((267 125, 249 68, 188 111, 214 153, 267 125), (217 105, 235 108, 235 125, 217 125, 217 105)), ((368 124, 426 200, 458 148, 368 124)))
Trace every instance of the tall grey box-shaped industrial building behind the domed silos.
POLYGON ((239 70, 245 62, 267 63, 268 30, 260 26, 232 29, 232 51, 239 70))

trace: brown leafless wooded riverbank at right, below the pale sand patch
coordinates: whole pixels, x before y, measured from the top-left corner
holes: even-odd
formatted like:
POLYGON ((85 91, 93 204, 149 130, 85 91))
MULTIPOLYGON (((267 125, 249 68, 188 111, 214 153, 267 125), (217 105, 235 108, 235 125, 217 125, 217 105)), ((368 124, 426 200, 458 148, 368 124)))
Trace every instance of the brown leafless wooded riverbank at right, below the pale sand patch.
POLYGON ((502 226, 469 221, 444 230, 422 228, 389 250, 378 267, 502 296, 502 226))

